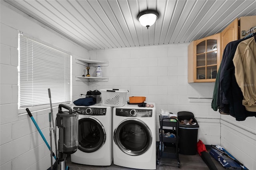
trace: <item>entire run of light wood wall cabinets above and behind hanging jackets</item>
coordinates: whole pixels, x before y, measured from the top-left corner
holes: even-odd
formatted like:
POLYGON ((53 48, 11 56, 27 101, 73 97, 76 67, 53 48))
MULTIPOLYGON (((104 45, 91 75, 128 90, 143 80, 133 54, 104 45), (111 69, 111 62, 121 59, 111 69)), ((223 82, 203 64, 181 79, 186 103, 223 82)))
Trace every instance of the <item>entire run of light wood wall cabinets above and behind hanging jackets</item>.
POLYGON ((188 45, 188 83, 215 82, 226 45, 246 37, 248 34, 243 32, 254 26, 256 16, 243 16, 236 18, 222 32, 191 42, 188 45))

